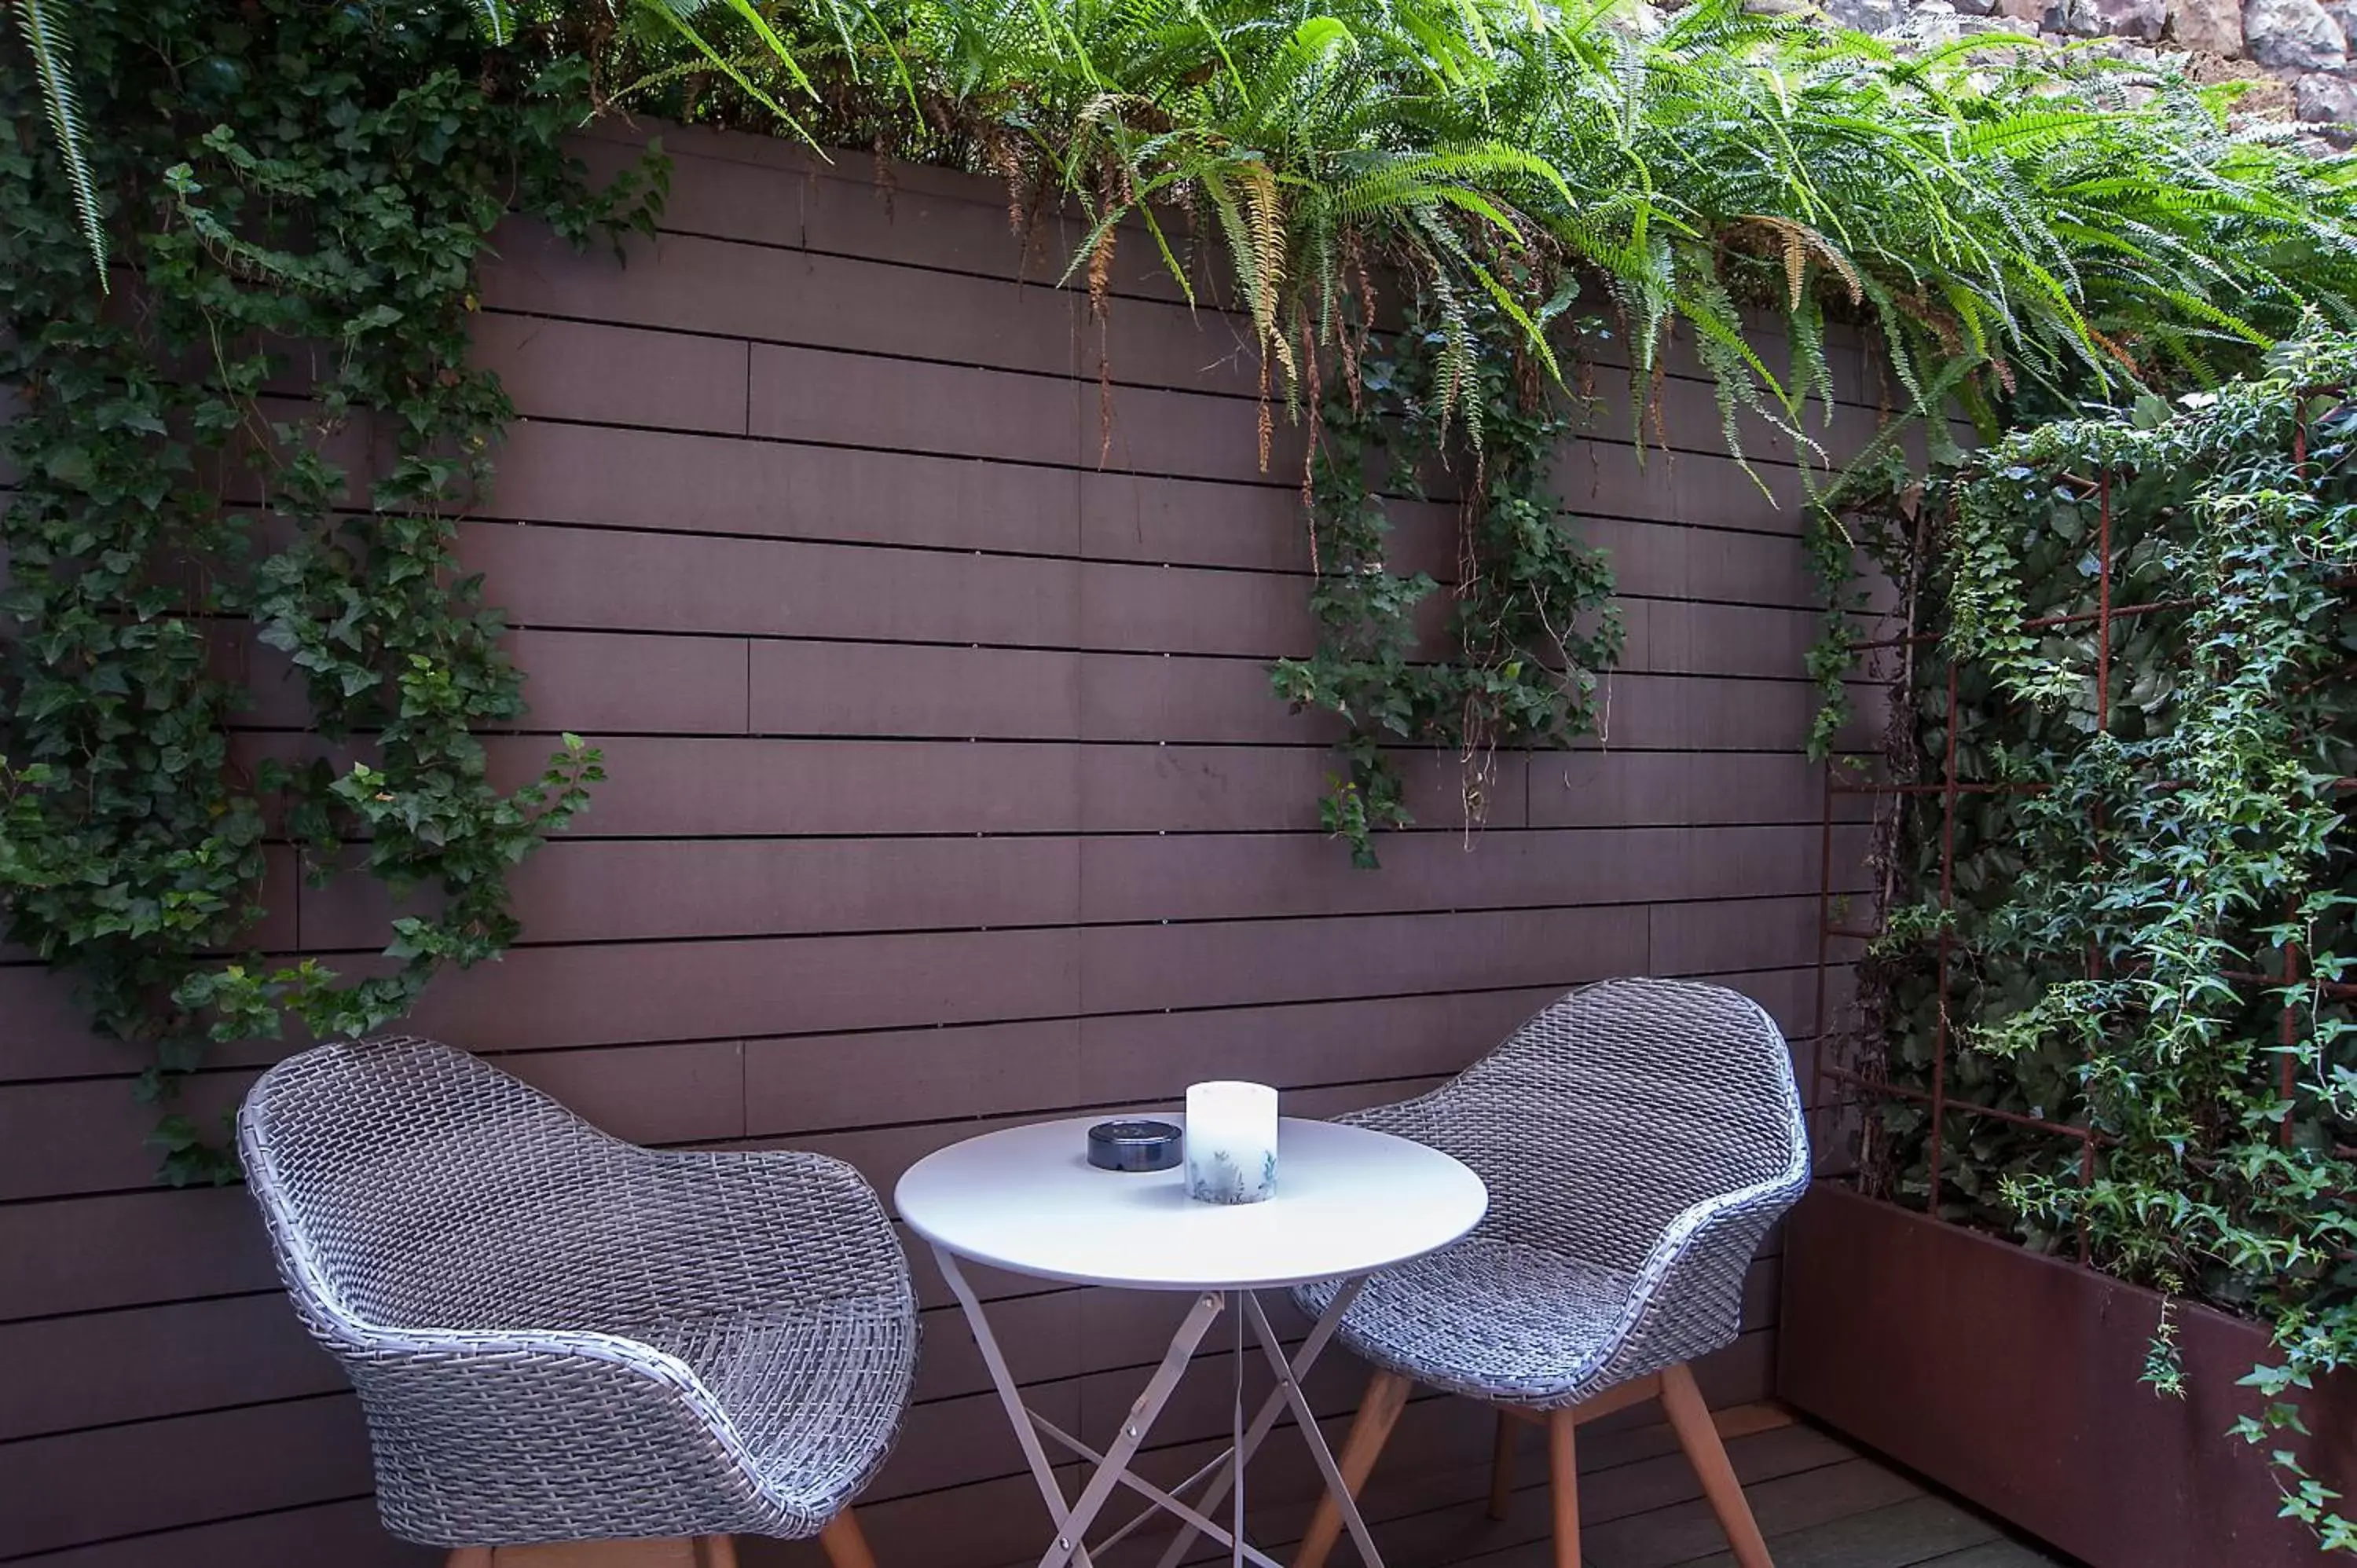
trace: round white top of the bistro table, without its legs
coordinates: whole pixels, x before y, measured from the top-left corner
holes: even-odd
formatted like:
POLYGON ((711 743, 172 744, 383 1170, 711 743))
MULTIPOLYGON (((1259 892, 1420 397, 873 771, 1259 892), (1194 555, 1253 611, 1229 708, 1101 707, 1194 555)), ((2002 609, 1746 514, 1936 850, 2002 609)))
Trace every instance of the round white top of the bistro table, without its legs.
POLYGON ((940 1148, 900 1177, 900 1219, 957 1257, 1042 1280, 1273 1290, 1424 1257, 1490 1207, 1480 1177, 1438 1148, 1292 1115, 1277 1125, 1275 1198, 1195 1203, 1186 1165, 1089 1165, 1089 1127, 1101 1120, 1035 1122, 940 1148))

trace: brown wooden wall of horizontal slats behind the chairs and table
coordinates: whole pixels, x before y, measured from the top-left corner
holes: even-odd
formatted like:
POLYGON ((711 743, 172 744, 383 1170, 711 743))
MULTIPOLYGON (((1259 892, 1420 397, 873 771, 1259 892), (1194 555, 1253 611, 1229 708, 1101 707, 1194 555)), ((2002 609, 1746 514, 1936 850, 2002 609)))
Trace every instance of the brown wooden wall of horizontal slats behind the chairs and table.
MULTIPOLYGON (((886 203, 858 158, 672 151, 667 233, 627 269, 511 226, 483 288, 478 354, 523 420, 464 552, 533 677, 533 733, 495 752, 523 773, 573 729, 613 780, 519 875, 526 943, 441 981, 422 1028, 625 1137, 827 1148, 886 1191, 978 1127, 1202 1075, 1303 1113, 1393 1099, 1607 974, 1718 976, 1805 1040, 1798 474, 1761 439, 1763 495, 1721 453, 1692 365, 1664 389, 1671 455, 1638 462, 1605 373, 1560 469, 1624 592, 1610 745, 1501 757, 1471 842, 1454 766, 1414 757, 1426 828, 1353 872, 1315 832, 1332 726, 1285 714, 1261 670, 1308 646, 1308 561, 1299 436, 1259 472, 1235 318, 1124 252, 1108 434, 1084 299, 1037 257, 1016 281, 990 184, 898 170, 886 203)), ((1855 347, 1841 368, 1871 387, 1855 347)), ((1871 424, 1846 408, 1827 443, 1871 424)), ((1447 509, 1402 514, 1400 559, 1445 568, 1447 509)), ((243 745, 299 747, 297 724, 266 684, 243 745)), ((1836 854, 1860 849, 1841 828, 1836 854)), ((382 941, 368 889, 280 882, 276 943, 382 941)), ((273 1052, 224 1052, 191 1103, 226 1111, 273 1052)), ((243 1193, 148 1186, 134 1068, 0 955, 0 1561, 431 1561, 375 1528, 351 1396, 243 1193)), ((1749 1332, 1709 1368, 1721 1401, 1768 1389, 1775 1269, 1770 1243, 1749 1332)), ((919 1276, 922 1405, 870 1533, 910 1568, 1028 1556, 1047 1521, 919 1276)), ((1171 1304, 990 1285, 1037 1398, 1103 1431, 1171 1304)), ((1318 1382, 1351 1405, 1348 1368, 1318 1382)), ((1157 1469, 1200 1462, 1221 1386, 1174 1408, 1157 1469)), ((1395 1450, 1395 1474, 1471 1474, 1487 1427, 1424 1401, 1395 1450)), ((1270 1452, 1256 1495, 1285 1516, 1310 1476, 1270 1452)), ((1593 1518, 1610 1467, 1652 1452, 1633 1419, 1586 1443, 1593 1518)), ((747 1551, 787 1559, 808 1561, 747 1551)))

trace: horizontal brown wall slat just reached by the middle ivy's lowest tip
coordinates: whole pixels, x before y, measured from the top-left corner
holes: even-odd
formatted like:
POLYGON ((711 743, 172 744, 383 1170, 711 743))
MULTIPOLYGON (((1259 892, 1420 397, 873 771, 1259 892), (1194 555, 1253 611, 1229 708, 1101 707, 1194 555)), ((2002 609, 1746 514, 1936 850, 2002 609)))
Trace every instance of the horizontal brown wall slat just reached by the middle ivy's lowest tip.
MULTIPOLYGON (((1836 865, 1860 865, 1862 832, 1838 832, 1836 865)), ((1419 832, 1374 872, 1315 835, 554 839, 511 887, 544 946, 1742 898, 1813 891, 1817 856, 1815 823, 1419 832)), ((372 948, 422 908, 342 877, 304 896, 302 936, 372 948)))

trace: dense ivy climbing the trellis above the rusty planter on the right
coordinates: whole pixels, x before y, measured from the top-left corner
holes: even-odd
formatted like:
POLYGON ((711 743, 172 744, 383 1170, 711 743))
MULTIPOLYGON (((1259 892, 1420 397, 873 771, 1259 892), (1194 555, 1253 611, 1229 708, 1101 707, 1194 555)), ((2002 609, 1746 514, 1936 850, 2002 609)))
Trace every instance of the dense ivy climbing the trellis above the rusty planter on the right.
MULTIPOLYGON (((1937 1139, 1947 1217, 2272 1323, 2239 1431, 2286 1514, 2357 1551, 2286 1436, 2296 1391, 2357 1353, 2350 387, 2357 337, 2315 330, 2176 408, 2015 434, 1855 538, 1923 582, 1916 613, 1961 660, 1954 736, 1945 663, 1902 681, 1893 773, 1937 780, 1954 745, 1959 780, 1999 785, 1956 802, 1949 901, 1940 797, 1895 823, 1867 1033, 1928 1087, 1945 931, 1947 1092, 2095 1134, 2081 1170, 2077 1139, 1895 1103, 1869 1172, 1921 1203, 1937 1139), (2102 646, 2091 620, 2022 630, 2095 611, 2105 512, 2114 608, 2161 608, 2102 646)), ((2171 1330, 2147 1365, 2164 1391, 2171 1330)))

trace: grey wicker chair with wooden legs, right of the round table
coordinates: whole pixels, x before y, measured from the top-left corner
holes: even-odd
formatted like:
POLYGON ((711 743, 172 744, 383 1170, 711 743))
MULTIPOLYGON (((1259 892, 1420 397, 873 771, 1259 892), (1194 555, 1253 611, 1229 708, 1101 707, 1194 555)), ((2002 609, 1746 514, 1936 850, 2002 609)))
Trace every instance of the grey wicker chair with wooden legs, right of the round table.
MULTIPOLYGON (((1688 1363, 1730 1344, 1768 1226, 1808 1186, 1791 1054, 1718 986, 1574 990, 1421 1099, 1348 1118, 1442 1148, 1490 1186, 1461 1243, 1367 1280, 1343 1344, 1374 1365, 1343 1448, 1358 1493, 1414 1384, 1499 1408, 1490 1511, 1513 1488, 1513 1422, 1549 1434, 1558 1568, 1579 1568, 1572 1429, 1659 1398, 1742 1568, 1768 1547, 1688 1363)), ((1320 1313, 1334 1283, 1308 1285, 1320 1313)), ((1294 1568, 1320 1568, 1318 1507, 1294 1568)))

